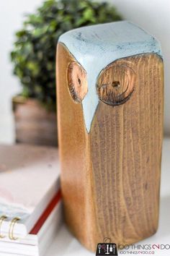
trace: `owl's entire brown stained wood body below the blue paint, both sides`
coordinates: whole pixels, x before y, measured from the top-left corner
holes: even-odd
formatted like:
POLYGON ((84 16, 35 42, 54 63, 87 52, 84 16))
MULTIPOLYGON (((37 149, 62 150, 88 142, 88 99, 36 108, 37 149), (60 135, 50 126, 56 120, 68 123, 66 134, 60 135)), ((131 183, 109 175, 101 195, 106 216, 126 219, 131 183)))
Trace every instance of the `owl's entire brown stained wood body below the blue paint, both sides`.
MULTIPOLYGON (((121 82, 122 93, 127 87, 120 67, 130 70, 130 90, 124 94, 125 102, 116 94, 107 103, 99 102, 89 134, 82 105, 73 102, 68 90, 67 72, 72 61, 76 60, 59 43, 58 132, 66 223, 92 251, 106 236, 117 244, 138 242, 154 234, 158 226, 162 59, 156 54, 141 54, 109 66, 117 70, 113 81, 121 82), (115 99, 121 104, 111 106, 115 99)), ((104 77, 99 77, 97 86, 101 81, 104 77)))

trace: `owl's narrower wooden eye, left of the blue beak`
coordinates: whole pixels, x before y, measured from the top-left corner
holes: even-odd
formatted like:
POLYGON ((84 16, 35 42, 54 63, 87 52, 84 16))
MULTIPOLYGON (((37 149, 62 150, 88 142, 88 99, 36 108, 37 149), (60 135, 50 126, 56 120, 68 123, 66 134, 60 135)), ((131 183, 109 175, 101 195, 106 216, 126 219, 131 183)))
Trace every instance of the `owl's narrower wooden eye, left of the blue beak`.
POLYGON ((68 65, 68 90, 75 103, 81 103, 88 91, 86 71, 75 61, 68 65))

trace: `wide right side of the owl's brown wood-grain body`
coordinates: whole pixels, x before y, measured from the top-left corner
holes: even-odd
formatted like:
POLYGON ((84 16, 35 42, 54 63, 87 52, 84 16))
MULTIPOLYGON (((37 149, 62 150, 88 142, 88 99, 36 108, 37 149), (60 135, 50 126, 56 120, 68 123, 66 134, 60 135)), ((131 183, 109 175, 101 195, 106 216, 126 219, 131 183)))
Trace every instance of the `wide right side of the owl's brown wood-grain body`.
MULTIPOLYGON (((154 54, 115 61, 135 73, 120 106, 99 103, 90 132, 99 240, 130 244, 158 226, 163 131, 163 65, 154 54)), ((100 78, 99 78, 100 79, 100 78)))

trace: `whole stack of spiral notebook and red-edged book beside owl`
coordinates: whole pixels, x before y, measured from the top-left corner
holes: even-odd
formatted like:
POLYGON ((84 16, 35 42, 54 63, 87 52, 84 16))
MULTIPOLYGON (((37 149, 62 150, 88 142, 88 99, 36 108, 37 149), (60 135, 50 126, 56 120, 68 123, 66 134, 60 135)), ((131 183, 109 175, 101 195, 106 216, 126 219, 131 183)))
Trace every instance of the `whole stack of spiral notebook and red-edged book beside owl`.
POLYGON ((58 150, 0 146, 0 256, 45 255, 62 223, 58 150))

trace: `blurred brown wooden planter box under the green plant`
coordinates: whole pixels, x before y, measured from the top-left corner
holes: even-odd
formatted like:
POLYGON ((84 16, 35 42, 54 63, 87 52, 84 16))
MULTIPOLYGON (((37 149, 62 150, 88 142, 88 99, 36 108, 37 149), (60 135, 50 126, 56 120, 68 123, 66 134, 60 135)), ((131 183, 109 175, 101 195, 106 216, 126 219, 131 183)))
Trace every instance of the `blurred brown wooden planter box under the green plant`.
POLYGON ((55 111, 48 111, 39 101, 13 98, 16 142, 32 145, 58 145, 55 111))

